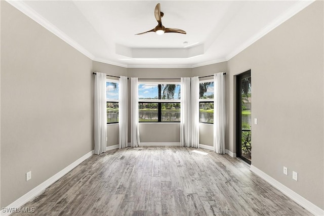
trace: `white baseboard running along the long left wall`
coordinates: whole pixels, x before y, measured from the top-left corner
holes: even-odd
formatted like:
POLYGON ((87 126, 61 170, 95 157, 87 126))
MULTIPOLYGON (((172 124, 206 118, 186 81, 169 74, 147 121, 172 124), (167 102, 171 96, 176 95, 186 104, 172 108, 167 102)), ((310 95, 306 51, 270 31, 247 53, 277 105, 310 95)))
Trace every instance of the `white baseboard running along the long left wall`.
POLYGON ((32 200, 34 197, 41 194, 47 187, 52 185, 54 182, 62 178, 65 174, 67 174, 69 171, 71 171, 73 168, 75 168, 77 165, 88 159, 91 155, 94 154, 94 150, 91 152, 88 152, 84 156, 80 157, 79 159, 75 160, 70 165, 66 166, 64 169, 59 171, 57 174, 46 180, 45 182, 41 183, 40 185, 36 186, 35 188, 31 189, 29 192, 27 192, 25 195, 21 196, 11 204, 9 204, 7 207, 2 208, 1 215, 10 215, 12 212, 7 212, 9 209, 17 209, 24 205, 26 202, 32 200), (7 210, 8 209, 8 210, 7 210))

